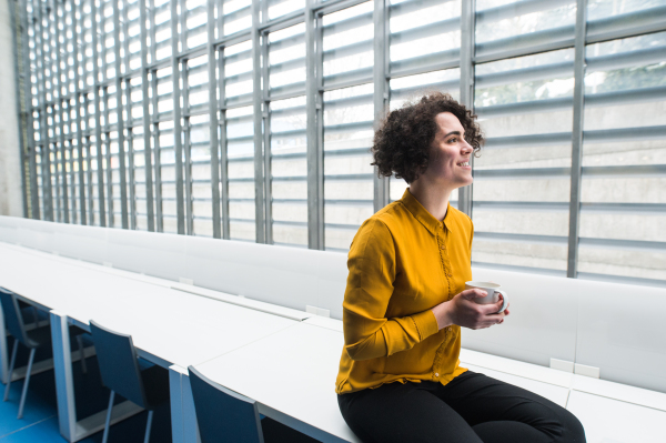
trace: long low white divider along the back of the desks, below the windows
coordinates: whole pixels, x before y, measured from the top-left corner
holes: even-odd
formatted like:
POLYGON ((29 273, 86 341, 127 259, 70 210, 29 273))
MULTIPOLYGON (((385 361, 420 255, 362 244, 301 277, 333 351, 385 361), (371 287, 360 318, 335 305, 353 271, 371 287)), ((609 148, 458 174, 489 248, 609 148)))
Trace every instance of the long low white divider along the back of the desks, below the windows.
MULTIPOLYGON (((230 240, 0 217, 0 241, 342 319, 346 254, 230 240)), ((500 328, 463 330, 465 348, 548 366, 558 359, 601 377, 666 392, 666 290, 473 268, 508 291, 500 328)))

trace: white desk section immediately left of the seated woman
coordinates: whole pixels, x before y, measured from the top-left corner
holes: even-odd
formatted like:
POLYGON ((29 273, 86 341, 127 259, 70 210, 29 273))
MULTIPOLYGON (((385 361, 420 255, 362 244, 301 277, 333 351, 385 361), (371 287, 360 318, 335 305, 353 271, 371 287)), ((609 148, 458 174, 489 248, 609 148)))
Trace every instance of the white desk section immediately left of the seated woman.
POLYGON ((337 406, 343 344, 341 332, 303 322, 195 366, 258 401, 260 413, 304 434, 322 442, 360 442, 337 406))

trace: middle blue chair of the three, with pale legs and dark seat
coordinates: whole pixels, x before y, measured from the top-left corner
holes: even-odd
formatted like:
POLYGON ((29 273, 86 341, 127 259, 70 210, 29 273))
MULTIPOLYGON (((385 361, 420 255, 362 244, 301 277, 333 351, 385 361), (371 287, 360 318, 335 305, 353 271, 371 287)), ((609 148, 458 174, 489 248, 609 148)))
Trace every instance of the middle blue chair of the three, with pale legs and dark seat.
POLYGON ((111 410, 118 393, 149 411, 143 440, 148 443, 153 412, 160 404, 169 401, 169 373, 160 366, 141 371, 131 335, 108 330, 92 320, 90 332, 97 350, 102 383, 111 390, 102 442, 107 443, 109 439, 111 410))

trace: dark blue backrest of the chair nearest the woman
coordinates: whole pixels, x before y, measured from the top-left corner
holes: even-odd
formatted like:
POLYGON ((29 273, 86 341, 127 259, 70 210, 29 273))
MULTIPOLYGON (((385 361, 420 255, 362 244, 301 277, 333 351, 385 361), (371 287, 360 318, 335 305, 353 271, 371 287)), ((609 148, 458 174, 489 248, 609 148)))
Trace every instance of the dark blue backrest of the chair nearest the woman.
POLYGON ((263 443, 254 400, 206 379, 193 366, 188 371, 202 443, 263 443))

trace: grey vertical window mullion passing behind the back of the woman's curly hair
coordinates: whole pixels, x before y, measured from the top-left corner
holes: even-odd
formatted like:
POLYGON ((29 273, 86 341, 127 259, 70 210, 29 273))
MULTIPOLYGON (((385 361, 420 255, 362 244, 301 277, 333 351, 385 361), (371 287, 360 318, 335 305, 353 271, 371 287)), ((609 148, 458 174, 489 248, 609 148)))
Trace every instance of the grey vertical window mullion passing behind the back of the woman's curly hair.
MULTIPOLYGON (((387 67, 386 60, 389 60, 387 49, 387 13, 386 13, 386 1, 375 0, 374 2, 374 122, 375 128, 379 127, 380 122, 384 118, 389 105, 389 81, 386 80, 387 67)), ((379 177, 379 169, 375 165, 374 170, 374 212, 377 212, 386 204, 389 204, 389 178, 379 177)))

